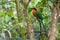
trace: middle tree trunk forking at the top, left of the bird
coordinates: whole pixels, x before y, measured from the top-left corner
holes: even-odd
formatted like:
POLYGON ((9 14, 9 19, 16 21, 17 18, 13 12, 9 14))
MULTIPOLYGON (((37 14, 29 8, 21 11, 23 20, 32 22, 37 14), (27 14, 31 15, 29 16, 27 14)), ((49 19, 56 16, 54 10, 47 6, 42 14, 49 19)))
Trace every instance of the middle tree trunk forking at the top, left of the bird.
POLYGON ((34 40, 34 30, 33 30, 32 24, 30 22, 30 18, 28 16, 28 11, 27 11, 27 6, 31 0, 20 0, 20 1, 24 6, 23 14, 24 14, 24 18, 25 18, 26 23, 27 23, 27 34, 29 35, 30 40, 34 40))

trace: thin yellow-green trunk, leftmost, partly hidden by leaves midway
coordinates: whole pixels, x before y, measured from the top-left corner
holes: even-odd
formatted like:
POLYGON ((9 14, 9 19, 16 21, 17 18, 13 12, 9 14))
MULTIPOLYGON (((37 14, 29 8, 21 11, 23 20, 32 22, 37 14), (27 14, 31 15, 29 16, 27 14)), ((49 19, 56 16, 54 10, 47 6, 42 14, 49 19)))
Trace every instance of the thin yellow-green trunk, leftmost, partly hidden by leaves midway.
MULTIPOLYGON (((18 21, 17 21, 17 23, 20 23, 21 21, 20 21, 20 2, 19 2, 20 0, 15 0, 15 3, 16 3, 16 10, 17 10, 17 16, 18 16, 18 21)), ((23 32, 23 28, 21 28, 20 27, 20 36, 21 36, 21 38, 22 38, 22 40, 26 40, 26 36, 25 36, 25 34, 24 34, 24 32, 23 32)))

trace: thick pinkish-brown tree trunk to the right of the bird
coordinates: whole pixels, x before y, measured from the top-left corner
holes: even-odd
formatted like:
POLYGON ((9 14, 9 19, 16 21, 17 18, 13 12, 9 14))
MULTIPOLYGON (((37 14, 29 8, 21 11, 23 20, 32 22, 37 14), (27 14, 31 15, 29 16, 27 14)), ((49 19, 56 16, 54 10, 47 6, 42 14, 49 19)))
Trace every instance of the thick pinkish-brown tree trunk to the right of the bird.
POLYGON ((51 28, 49 29, 48 40, 56 40, 57 21, 58 21, 58 8, 57 8, 57 4, 55 3, 52 14, 51 28))

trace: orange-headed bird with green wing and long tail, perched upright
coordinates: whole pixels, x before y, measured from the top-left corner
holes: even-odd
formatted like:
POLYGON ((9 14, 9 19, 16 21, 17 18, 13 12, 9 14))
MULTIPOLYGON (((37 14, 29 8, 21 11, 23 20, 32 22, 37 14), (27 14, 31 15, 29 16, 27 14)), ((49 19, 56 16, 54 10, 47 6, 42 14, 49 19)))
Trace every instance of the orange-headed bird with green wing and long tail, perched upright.
POLYGON ((40 26, 41 26, 40 29, 44 30, 42 13, 39 11, 38 8, 32 8, 32 13, 37 18, 37 20, 40 22, 40 26))

